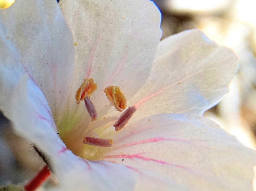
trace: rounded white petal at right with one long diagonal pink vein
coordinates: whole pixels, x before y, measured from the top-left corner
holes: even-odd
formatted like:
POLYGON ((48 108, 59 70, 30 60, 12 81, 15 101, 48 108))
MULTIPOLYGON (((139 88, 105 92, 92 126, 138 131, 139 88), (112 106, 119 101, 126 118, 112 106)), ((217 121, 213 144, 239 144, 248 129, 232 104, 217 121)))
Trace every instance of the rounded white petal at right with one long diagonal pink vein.
POLYGON ((128 102, 141 116, 171 112, 202 114, 228 92, 237 71, 236 55, 189 30, 160 42, 150 77, 128 102))

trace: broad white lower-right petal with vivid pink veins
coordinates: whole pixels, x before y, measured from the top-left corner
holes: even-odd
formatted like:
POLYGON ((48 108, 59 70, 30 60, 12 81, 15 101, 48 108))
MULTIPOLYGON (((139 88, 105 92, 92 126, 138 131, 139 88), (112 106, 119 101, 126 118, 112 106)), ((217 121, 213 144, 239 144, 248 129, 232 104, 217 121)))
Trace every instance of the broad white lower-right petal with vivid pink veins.
POLYGON ((118 132, 108 149, 105 160, 127 165, 142 180, 158 174, 155 181, 138 180, 147 190, 161 179, 188 190, 252 190, 256 151, 194 114, 144 118, 118 132))

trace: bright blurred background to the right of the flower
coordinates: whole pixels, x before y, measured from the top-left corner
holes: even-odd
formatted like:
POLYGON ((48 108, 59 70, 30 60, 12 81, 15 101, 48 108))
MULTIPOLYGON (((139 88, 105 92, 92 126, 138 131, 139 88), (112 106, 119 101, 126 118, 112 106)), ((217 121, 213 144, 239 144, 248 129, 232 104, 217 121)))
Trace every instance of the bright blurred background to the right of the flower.
POLYGON ((205 113, 243 144, 256 148, 256 1, 155 0, 162 12, 163 37, 199 28, 232 49, 239 71, 230 93, 205 113))

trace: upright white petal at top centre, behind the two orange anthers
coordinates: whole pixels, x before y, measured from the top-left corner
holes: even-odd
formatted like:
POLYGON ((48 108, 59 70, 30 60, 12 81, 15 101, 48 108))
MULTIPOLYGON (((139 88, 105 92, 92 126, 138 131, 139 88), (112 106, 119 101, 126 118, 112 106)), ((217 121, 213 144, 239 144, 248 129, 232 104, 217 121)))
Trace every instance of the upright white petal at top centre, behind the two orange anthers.
POLYGON ((131 98, 146 82, 162 34, 158 8, 149 0, 61 0, 59 5, 77 44, 73 87, 93 78, 98 110, 109 104, 104 93, 109 85, 131 98))

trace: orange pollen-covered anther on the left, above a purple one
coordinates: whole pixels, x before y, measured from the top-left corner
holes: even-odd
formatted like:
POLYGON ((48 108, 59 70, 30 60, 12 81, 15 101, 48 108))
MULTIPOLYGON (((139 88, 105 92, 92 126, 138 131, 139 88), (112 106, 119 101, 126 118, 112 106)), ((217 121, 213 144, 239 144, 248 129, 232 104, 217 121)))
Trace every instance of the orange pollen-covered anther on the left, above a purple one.
POLYGON ((84 100, 85 97, 90 97, 96 89, 97 84, 94 83, 92 78, 84 79, 84 82, 76 91, 76 103, 80 103, 80 100, 84 100))

